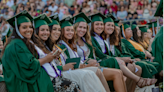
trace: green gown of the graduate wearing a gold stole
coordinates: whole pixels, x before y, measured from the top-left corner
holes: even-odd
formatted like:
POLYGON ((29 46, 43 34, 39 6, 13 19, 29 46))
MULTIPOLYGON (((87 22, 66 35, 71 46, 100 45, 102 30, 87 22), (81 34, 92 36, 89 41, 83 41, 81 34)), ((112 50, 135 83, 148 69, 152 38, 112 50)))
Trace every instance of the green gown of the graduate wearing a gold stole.
POLYGON ((134 59, 134 58, 141 59, 141 61, 138 61, 135 63, 136 65, 139 65, 142 68, 141 77, 152 78, 154 74, 158 73, 157 69, 159 67, 159 64, 156 62, 146 61, 145 54, 143 52, 140 52, 139 50, 136 50, 133 47, 133 45, 126 39, 122 39, 121 48, 122 48, 123 55, 125 54, 127 56, 129 54, 129 57, 131 57, 132 59, 134 59))

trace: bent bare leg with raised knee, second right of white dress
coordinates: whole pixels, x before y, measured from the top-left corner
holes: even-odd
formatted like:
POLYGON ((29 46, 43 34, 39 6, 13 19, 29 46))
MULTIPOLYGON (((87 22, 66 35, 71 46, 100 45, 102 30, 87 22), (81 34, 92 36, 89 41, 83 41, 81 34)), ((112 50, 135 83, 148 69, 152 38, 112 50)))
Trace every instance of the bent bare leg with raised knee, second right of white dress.
POLYGON ((107 81, 113 80, 113 85, 116 92, 127 92, 122 71, 118 69, 105 68, 103 70, 103 74, 107 81))

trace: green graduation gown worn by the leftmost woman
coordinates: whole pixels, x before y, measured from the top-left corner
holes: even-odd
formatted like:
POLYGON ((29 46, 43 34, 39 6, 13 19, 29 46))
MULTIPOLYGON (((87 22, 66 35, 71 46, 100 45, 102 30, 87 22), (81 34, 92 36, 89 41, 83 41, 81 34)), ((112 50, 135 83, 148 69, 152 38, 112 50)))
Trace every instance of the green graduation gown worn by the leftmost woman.
POLYGON ((54 92, 49 75, 22 40, 7 45, 2 64, 9 92, 54 92))

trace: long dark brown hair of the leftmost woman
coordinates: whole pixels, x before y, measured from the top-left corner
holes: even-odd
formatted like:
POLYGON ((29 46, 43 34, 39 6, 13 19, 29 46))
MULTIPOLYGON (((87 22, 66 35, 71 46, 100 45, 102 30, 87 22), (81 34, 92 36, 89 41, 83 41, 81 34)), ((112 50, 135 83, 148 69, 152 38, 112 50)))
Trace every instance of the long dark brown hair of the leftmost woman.
MULTIPOLYGON (((32 23, 31 23, 31 24, 32 24, 32 23)), ((21 24, 20 24, 20 25, 21 25, 21 24)), ((20 25, 18 25, 18 28, 20 27, 20 25)), ((33 28, 33 27, 32 27, 32 28, 33 28)), ((34 29, 34 28, 33 28, 33 29, 34 29)), ((5 45, 4 45, 4 48, 3 48, 3 50, 2 50, 1 57, 2 57, 3 54, 4 54, 4 51, 5 51, 6 46, 7 46, 12 40, 14 40, 14 39, 21 39, 21 38, 18 36, 18 34, 17 34, 15 28, 13 29, 13 32, 12 32, 11 36, 7 39, 7 41, 6 41, 5 45)), ((30 40, 27 39, 27 38, 24 38, 24 39, 21 39, 21 40, 26 44, 27 48, 28 48, 29 51, 34 55, 34 57, 37 58, 38 55, 37 55, 37 51, 36 51, 36 49, 35 49, 35 47, 34 47, 34 44, 32 44, 32 43, 30 42, 30 40)), ((35 39, 35 37, 34 37, 34 31, 33 31, 31 40, 37 40, 37 39, 35 39)))

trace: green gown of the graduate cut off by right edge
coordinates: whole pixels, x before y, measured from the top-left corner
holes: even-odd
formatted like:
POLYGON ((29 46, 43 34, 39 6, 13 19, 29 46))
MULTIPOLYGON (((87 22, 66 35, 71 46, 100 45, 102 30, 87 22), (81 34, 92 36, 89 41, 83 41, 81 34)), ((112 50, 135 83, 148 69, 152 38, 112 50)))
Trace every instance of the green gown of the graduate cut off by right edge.
POLYGON ((158 71, 163 70, 163 26, 156 34, 152 43, 152 55, 155 57, 154 62, 159 63, 158 71))

